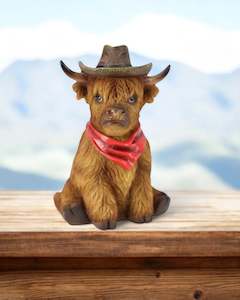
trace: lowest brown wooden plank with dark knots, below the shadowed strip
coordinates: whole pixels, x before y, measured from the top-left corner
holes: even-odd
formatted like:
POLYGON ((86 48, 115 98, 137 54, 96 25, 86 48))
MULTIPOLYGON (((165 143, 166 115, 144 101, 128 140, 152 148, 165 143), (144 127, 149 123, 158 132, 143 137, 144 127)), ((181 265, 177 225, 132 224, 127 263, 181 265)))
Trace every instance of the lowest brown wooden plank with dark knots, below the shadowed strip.
POLYGON ((1 299, 240 298, 240 273, 225 270, 77 270, 1 272, 1 299))

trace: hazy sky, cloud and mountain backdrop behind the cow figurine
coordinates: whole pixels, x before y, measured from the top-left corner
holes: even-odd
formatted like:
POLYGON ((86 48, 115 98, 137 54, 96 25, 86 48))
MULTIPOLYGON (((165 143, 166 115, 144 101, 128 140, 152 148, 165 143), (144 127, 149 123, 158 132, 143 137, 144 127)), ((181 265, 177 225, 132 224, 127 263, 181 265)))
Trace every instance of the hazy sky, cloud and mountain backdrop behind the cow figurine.
POLYGON ((88 106, 63 59, 95 66, 105 44, 133 65, 169 63, 141 113, 162 189, 240 188, 240 1, 0 1, 0 188, 59 189, 88 106))

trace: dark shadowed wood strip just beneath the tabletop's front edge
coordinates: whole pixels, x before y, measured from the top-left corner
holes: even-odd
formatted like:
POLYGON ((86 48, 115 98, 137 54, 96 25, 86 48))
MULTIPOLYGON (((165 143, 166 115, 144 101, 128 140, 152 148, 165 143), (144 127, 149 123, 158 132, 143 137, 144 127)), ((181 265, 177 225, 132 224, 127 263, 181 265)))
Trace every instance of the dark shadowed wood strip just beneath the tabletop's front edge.
MULTIPOLYGON (((240 269, 236 257, 5 257, 0 271, 79 269, 240 269)), ((240 288, 240 287, 239 287, 240 288)))

